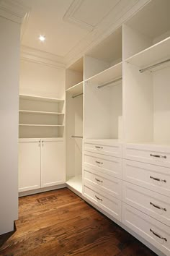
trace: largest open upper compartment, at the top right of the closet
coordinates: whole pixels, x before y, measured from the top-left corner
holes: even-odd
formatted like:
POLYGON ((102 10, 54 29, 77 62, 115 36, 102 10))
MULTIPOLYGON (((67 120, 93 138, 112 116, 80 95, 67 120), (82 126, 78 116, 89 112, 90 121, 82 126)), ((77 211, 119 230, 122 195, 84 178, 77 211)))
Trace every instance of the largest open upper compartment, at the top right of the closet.
MULTIPOLYGON (((164 59, 164 52, 167 54, 164 48, 169 48, 169 40, 164 42, 170 36, 169 15, 169 0, 153 0, 130 18, 122 27, 123 59, 128 59, 147 48, 152 48, 151 46, 156 46, 156 44, 160 48, 157 59, 164 59), (163 51, 161 43, 164 44, 162 45, 163 51)), ((154 54, 153 48, 149 56, 153 57, 154 54)), ((157 59, 151 59, 150 63, 154 63, 157 59)))

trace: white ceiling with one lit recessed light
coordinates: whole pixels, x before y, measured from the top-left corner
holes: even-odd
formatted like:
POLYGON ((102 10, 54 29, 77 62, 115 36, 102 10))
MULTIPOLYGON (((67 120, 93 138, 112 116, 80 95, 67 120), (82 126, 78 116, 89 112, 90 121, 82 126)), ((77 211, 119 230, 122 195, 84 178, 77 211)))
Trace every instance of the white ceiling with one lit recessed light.
POLYGON ((67 58, 89 46, 143 0, 21 0, 30 9, 22 46, 67 58), (45 42, 38 37, 45 35, 45 42))

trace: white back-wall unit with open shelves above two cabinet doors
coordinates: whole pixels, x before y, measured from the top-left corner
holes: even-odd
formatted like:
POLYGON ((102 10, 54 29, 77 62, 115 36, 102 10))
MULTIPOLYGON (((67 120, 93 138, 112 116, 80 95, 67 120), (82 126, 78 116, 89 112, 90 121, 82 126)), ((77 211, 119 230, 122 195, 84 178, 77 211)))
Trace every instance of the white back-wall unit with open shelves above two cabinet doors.
POLYGON ((66 182, 63 99, 19 96, 19 192, 66 182))

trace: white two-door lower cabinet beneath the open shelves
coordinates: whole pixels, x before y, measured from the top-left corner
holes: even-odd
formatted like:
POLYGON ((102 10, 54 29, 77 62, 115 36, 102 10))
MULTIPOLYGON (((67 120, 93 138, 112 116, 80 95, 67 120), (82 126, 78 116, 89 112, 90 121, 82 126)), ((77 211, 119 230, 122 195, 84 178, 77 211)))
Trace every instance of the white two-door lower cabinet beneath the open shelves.
POLYGON ((19 139, 19 192, 64 184, 63 139, 19 139))

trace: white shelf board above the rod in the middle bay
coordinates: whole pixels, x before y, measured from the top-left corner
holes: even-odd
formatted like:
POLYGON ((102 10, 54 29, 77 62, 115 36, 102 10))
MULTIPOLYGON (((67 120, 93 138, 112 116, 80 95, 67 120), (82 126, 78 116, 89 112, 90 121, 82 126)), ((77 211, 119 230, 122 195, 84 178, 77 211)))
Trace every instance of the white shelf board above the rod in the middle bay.
POLYGON ((120 77, 122 77, 122 61, 98 74, 95 74, 93 77, 88 78, 86 82, 90 82, 91 84, 93 83, 97 85, 103 85, 120 77))

